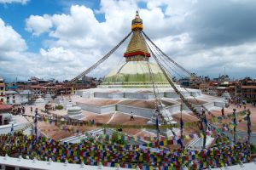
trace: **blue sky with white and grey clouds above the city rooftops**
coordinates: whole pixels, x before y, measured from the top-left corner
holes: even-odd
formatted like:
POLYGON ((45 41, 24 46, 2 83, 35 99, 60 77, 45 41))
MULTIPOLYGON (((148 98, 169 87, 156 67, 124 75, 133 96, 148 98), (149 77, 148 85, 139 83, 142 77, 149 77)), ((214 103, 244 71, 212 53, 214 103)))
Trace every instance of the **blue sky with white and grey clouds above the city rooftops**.
POLYGON ((255 0, 0 0, 0 76, 75 77, 131 31, 137 9, 148 37, 187 70, 256 77, 255 0))

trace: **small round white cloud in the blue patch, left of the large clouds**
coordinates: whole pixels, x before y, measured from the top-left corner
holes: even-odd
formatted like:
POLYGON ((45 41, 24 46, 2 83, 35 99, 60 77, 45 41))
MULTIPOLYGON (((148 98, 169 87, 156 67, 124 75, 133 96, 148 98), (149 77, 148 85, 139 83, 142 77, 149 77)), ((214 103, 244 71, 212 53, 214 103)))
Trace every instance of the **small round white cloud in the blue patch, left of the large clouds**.
POLYGON ((43 17, 31 15, 28 19, 26 19, 26 31, 32 32, 32 34, 35 36, 48 32, 51 27, 52 21, 47 14, 44 14, 43 17))

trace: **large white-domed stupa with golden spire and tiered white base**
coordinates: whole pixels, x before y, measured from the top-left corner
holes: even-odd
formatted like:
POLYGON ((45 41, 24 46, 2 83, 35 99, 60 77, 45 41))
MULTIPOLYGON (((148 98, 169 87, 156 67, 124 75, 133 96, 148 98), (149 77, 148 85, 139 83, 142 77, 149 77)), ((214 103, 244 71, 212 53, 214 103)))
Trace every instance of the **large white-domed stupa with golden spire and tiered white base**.
MULTIPOLYGON (((77 105, 83 111, 90 112, 90 116, 85 114, 85 119, 90 117, 88 120, 96 119, 96 122, 119 123, 118 121, 115 122, 115 118, 118 120, 120 118, 127 124, 154 124, 156 119, 155 111, 159 105, 155 101, 155 95, 157 95, 160 99, 160 109, 166 122, 174 124, 179 122, 181 110, 183 111, 183 120, 185 122, 197 122, 198 118, 192 114, 186 105, 183 105, 179 95, 166 80, 166 76, 161 71, 160 66, 152 61, 151 54, 148 52, 147 44, 142 35, 143 20, 138 13, 131 22, 131 31, 131 40, 123 56, 125 62, 121 65, 116 65, 113 71, 110 71, 104 77, 102 84, 97 88, 76 92, 77 105), (155 94, 154 88, 157 88, 157 94, 155 94), (134 114, 137 122, 130 121, 131 113, 134 114), (91 114, 96 115, 91 116, 91 114), (97 120, 97 116, 108 115, 110 115, 111 120, 97 120)), ((222 108, 225 105, 223 99, 201 94, 199 89, 180 88, 177 84, 175 86, 186 99, 195 105, 198 111, 201 111, 201 105, 204 105, 208 110, 218 110, 218 108, 222 108)), ((196 128, 187 129, 188 133, 192 133, 194 130, 197 132, 196 128)), ((155 133, 147 129, 142 129, 141 131, 124 129, 124 132, 129 135, 155 133)), ((179 129, 172 128, 172 130, 166 129, 160 133, 168 137, 180 132, 179 129)))

